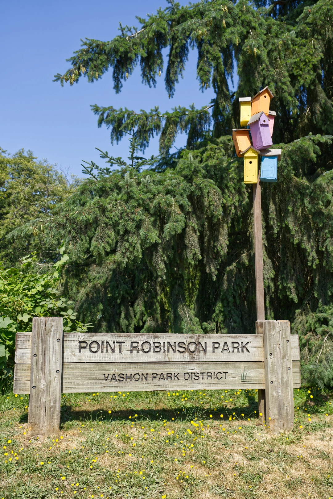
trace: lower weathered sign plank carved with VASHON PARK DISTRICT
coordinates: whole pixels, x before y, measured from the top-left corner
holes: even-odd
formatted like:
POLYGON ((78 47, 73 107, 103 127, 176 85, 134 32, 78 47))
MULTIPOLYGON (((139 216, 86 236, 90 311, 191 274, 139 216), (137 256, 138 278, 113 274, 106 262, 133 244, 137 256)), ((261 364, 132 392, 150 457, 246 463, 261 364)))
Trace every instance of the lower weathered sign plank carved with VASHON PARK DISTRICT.
MULTIPOLYGON (((301 384, 300 362, 294 361, 292 365, 294 388, 299 388, 301 384)), ((138 364, 93 362, 81 364, 73 362, 63 364, 62 393, 114 392, 118 390, 234 390, 239 388, 260 389, 264 386, 265 372, 263 362, 172 362, 164 364, 154 364, 151 362, 138 364), (173 379, 174 375, 178 372, 177 379, 173 379), (205 373, 204 375, 200 374, 203 372, 205 373), (208 374, 207 379, 207 372, 211 373, 212 379, 210 379, 210 374, 208 374), (166 379, 168 373, 172 374, 172 380, 170 376, 166 379), (184 373, 187 374, 184 376, 184 373), (218 373, 222 373, 222 376, 218 373), (224 373, 227 374, 225 375, 224 373), (113 374, 116 380, 115 378, 112 379, 113 374), (118 381, 119 378, 123 378, 123 376, 120 376, 121 374, 124 375, 124 381, 118 381), (135 376, 135 374, 140 374, 140 381, 139 376, 135 376), (143 374, 144 377, 142 376, 143 374), (154 375, 154 380, 153 374, 158 375, 154 375), (164 375, 164 380, 161 374, 164 375), (134 380, 134 376, 138 381, 134 380), (159 379, 160 377, 161 379, 159 379), (199 379, 195 379, 198 377, 199 379), (244 377, 245 379, 242 379, 244 377)), ((14 392, 18 394, 29 393, 29 388, 30 364, 15 364, 14 392)))

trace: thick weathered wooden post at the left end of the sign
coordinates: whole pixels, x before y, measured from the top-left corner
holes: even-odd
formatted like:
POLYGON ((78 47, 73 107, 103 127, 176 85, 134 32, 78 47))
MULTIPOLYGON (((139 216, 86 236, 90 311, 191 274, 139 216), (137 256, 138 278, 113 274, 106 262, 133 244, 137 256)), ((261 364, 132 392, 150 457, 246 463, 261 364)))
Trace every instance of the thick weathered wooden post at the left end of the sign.
POLYGON ((62 317, 33 317, 29 435, 59 432, 62 371, 62 317))

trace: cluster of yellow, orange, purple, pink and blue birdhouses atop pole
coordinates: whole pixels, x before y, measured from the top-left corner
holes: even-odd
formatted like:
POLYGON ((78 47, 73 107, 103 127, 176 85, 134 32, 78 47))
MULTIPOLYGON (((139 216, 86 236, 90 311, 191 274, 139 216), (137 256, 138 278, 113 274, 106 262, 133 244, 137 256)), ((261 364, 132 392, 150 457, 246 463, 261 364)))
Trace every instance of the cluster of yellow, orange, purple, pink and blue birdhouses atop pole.
POLYGON ((258 164, 261 156, 260 180, 276 182, 281 149, 271 149, 275 111, 270 110, 273 94, 268 87, 258 92, 253 99, 240 97, 240 126, 232 131, 232 140, 237 156, 244 158, 244 183, 256 184, 258 164))

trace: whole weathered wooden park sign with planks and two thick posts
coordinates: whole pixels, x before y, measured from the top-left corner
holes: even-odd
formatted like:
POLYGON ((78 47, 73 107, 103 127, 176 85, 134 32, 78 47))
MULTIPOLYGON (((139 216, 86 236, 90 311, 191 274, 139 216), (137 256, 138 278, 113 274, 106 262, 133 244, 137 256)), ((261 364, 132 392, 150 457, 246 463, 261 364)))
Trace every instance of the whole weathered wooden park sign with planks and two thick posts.
POLYGON ((299 337, 289 321, 257 321, 256 333, 63 333, 61 317, 34 317, 16 334, 14 392, 30 394, 29 435, 59 431, 61 393, 119 390, 265 390, 271 430, 292 429, 299 337))

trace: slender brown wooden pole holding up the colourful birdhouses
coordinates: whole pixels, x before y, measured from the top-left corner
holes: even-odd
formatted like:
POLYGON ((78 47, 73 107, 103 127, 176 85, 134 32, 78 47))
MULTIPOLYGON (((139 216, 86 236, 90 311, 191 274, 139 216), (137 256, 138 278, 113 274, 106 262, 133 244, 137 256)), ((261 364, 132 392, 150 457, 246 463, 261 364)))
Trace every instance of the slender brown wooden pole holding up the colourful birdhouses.
MULTIPOLYGON (((258 181, 253 184, 253 220, 254 220, 254 260, 256 269, 256 303, 257 321, 265 320, 265 297, 264 297, 264 266, 263 266, 263 237, 261 225, 261 182, 260 171, 258 181)), ((257 334, 262 334, 260 329, 257 334)), ((258 390, 259 419, 266 419, 265 390, 258 390), (262 416, 260 416, 262 414, 262 416)))

